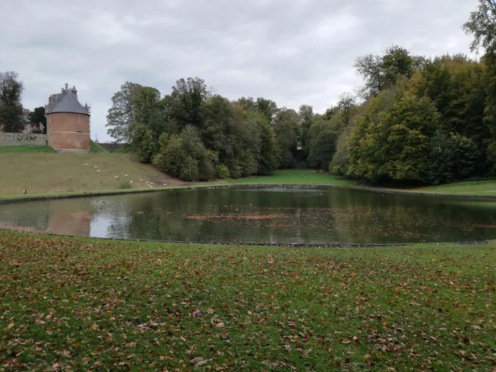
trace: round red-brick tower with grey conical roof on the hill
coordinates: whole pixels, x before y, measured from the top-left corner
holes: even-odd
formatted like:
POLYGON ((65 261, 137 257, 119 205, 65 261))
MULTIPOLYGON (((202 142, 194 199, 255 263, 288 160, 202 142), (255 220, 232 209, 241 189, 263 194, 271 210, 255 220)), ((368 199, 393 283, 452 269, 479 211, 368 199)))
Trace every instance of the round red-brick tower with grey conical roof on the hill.
POLYGON ((76 87, 65 84, 45 105, 48 145, 57 152, 90 152, 90 109, 77 98, 76 87))

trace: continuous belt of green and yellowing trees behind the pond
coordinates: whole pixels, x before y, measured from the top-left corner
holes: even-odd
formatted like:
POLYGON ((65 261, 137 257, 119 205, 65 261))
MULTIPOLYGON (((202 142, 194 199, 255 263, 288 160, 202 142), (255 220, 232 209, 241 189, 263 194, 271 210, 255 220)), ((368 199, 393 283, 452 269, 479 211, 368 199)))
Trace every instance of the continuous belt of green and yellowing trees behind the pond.
POLYGON ((161 96, 127 82, 109 134, 184 180, 240 178, 305 165, 378 183, 440 184, 496 172, 496 5, 479 0, 473 50, 426 59, 397 45, 355 61, 364 86, 323 114, 269 99, 229 101, 198 78, 161 96), (362 101, 358 101, 362 99, 362 101))

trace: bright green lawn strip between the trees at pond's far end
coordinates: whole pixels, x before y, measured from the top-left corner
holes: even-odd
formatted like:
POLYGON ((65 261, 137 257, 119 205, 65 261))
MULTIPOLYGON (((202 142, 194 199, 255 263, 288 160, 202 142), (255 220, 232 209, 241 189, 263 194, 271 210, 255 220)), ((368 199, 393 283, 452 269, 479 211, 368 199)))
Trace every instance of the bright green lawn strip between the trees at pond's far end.
POLYGON ((272 176, 248 177, 238 180, 230 180, 230 183, 258 183, 267 185, 355 185, 355 180, 348 180, 340 176, 333 176, 329 173, 316 172, 313 169, 291 169, 279 170, 272 176))

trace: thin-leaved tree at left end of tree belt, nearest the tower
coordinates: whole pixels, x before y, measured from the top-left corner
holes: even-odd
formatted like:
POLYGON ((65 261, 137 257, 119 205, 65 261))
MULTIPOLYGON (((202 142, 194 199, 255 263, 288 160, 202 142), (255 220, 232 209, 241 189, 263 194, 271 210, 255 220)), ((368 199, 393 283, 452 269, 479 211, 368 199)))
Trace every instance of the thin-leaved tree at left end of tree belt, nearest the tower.
POLYGON ((107 114, 107 133, 116 142, 129 142, 132 139, 132 129, 136 123, 136 107, 134 97, 141 85, 126 81, 121 90, 112 96, 112 107, 107 114))

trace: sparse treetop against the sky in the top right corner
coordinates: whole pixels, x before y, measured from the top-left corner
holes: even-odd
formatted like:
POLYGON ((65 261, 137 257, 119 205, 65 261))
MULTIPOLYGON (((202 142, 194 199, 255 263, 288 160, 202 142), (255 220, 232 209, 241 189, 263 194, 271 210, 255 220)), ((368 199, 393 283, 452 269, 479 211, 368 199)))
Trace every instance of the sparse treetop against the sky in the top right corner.
POLYGON ((471 51, 479 47, 488 50, 496 41, 496 0, 479 0, 479 7, 463 25, 466 34, 472 34, 471 51))

